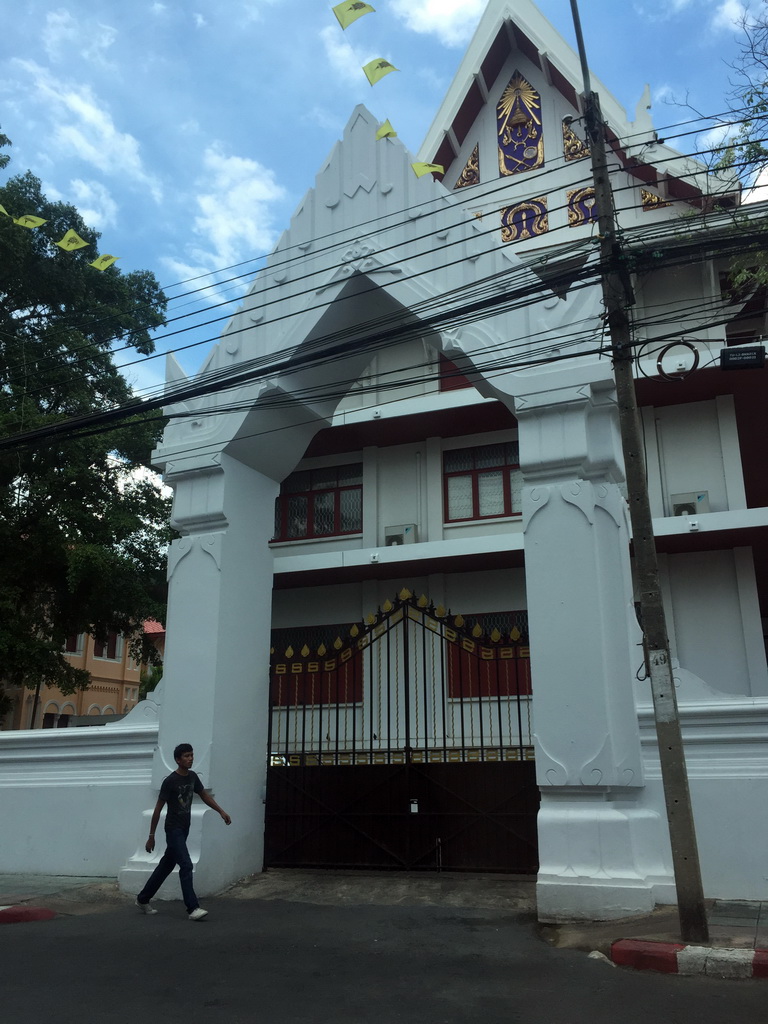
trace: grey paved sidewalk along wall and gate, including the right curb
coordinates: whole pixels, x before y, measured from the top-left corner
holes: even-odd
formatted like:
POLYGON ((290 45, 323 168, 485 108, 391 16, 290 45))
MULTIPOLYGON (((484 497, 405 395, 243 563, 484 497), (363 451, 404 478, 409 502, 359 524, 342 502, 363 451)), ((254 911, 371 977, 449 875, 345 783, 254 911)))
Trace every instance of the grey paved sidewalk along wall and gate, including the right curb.
MULTIPOLYGON (((504 908, 536 915, 536 881, 527 876, 272 869, 242 879, 219 896, 336 906, 504 908)), ((30 915, 33 909, 86 914, 131 902, 114 879, 0 874, 0 924, 41 920, 30 915)), ((681 943, 677 908, 670 906, 641 918, 540 925, 538 931, 551 946, 602 953, 625 967, 718 977, 768 976, 768 902, 710 900, 708 920, 708 946, 681 943)))

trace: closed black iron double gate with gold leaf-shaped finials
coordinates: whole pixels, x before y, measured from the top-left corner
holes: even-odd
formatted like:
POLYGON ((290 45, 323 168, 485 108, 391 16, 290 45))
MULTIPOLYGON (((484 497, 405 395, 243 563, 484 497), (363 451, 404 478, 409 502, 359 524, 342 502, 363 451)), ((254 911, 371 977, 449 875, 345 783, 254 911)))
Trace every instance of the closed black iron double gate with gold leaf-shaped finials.
POLYGON ((273 640, 265 866, 537 870, 525 612, 403 590, 273 640))

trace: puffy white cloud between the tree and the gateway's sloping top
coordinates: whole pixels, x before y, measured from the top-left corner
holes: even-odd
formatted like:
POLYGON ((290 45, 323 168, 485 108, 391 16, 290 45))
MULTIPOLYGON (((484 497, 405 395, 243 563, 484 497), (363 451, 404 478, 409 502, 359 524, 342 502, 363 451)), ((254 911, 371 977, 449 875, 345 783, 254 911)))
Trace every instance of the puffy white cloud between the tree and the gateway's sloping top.
MULTIPOLYGON (((202 190, 196 200, 193 222, 218 265, 256 256, 274 244, 270 204, 286 191, 270 170, 247 157, 225 156, 220 145, 208 146, 203 156, 202 190)), ((208 262, 200 251, 193 258, 208 262)))

